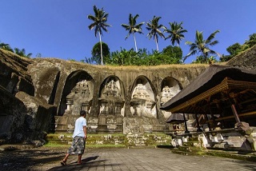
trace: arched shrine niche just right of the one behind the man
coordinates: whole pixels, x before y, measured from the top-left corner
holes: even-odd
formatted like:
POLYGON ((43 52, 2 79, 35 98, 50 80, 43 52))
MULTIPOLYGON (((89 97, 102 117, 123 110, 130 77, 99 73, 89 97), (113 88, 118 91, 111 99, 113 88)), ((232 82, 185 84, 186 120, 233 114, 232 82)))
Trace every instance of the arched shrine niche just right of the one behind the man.
POLYGON ((125 108, 122 82, 116 76, 110 76, 102 82, 100 90, 97 131, 122 132, 122 119, 125 108))

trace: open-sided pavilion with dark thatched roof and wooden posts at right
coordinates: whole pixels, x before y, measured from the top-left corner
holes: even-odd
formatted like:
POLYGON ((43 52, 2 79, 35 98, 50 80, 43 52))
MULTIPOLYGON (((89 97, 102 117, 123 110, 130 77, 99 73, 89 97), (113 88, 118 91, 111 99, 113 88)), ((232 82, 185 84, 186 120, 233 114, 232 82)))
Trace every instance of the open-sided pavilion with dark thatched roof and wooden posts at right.
MULTIPOLYGON (((256 51, 253 52, 246 52, 226 65, 211 65, 190 85, 166 101, 161 109, 183 113, 184 118, 192 115, 196 134, 203 134, 205 146, 220 144, 225 139, 225 144, 233 143, 233 146, 236 144, 239 147, 246 142, 247 146, 250 144, 250 149, 255 149, 256 51), (202 125, 207 125, 207 129, 202 129, 202 125), (228 141, 229 137, 232 140, 228 141), (234 137, 244 137, 243 142, 234 142, 238 141, 234 137)), ((184 136, 189 133, 186 127, 184 136)))

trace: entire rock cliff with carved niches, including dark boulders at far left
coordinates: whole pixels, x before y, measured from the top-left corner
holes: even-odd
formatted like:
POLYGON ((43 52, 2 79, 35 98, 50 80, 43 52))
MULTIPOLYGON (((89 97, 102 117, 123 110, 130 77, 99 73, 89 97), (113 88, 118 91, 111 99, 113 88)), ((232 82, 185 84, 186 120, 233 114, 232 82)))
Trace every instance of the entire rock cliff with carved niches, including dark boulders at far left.
POLYGON ((207 67, 92 66, 0 50, 0 139, 34 141, 44 132, 71 131, 81 109, 92 132, 168 130, 170 113, 160 106, 207 67))

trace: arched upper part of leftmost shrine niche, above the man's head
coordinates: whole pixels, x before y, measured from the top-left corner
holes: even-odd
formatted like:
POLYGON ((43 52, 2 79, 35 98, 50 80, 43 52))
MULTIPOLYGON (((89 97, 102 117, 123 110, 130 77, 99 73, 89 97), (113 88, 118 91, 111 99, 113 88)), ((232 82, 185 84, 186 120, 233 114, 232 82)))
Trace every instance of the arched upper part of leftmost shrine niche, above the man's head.
POLYGON ((81 109, 90 110, 93 98, 93 78, 84 70, 77 70, 66 78, 58 115, 78 115, 81 109))

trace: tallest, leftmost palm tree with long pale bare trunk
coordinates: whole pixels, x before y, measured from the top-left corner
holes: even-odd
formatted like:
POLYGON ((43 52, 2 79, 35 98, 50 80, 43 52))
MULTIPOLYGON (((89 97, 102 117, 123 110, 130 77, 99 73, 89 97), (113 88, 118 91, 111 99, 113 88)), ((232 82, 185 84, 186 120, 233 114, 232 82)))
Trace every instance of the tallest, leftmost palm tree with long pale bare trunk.
POLYGON ((103 56, 102 56, 102 30, 107 31, 107 27, 110 26, 109 24, 106 24, 107 17, 109 14, 105 13, 103 8, 100 10, 96 6, 94 6, 94 15, 88 15, 87 18, 93 21, 92 24, 90 24, 89 29, 93 30, 95 27, 95 37, 97 38, 97 34, 99 36, 99 42, 101 42, 101 58, 102 58, 102 65, 103 65, 103 56))

